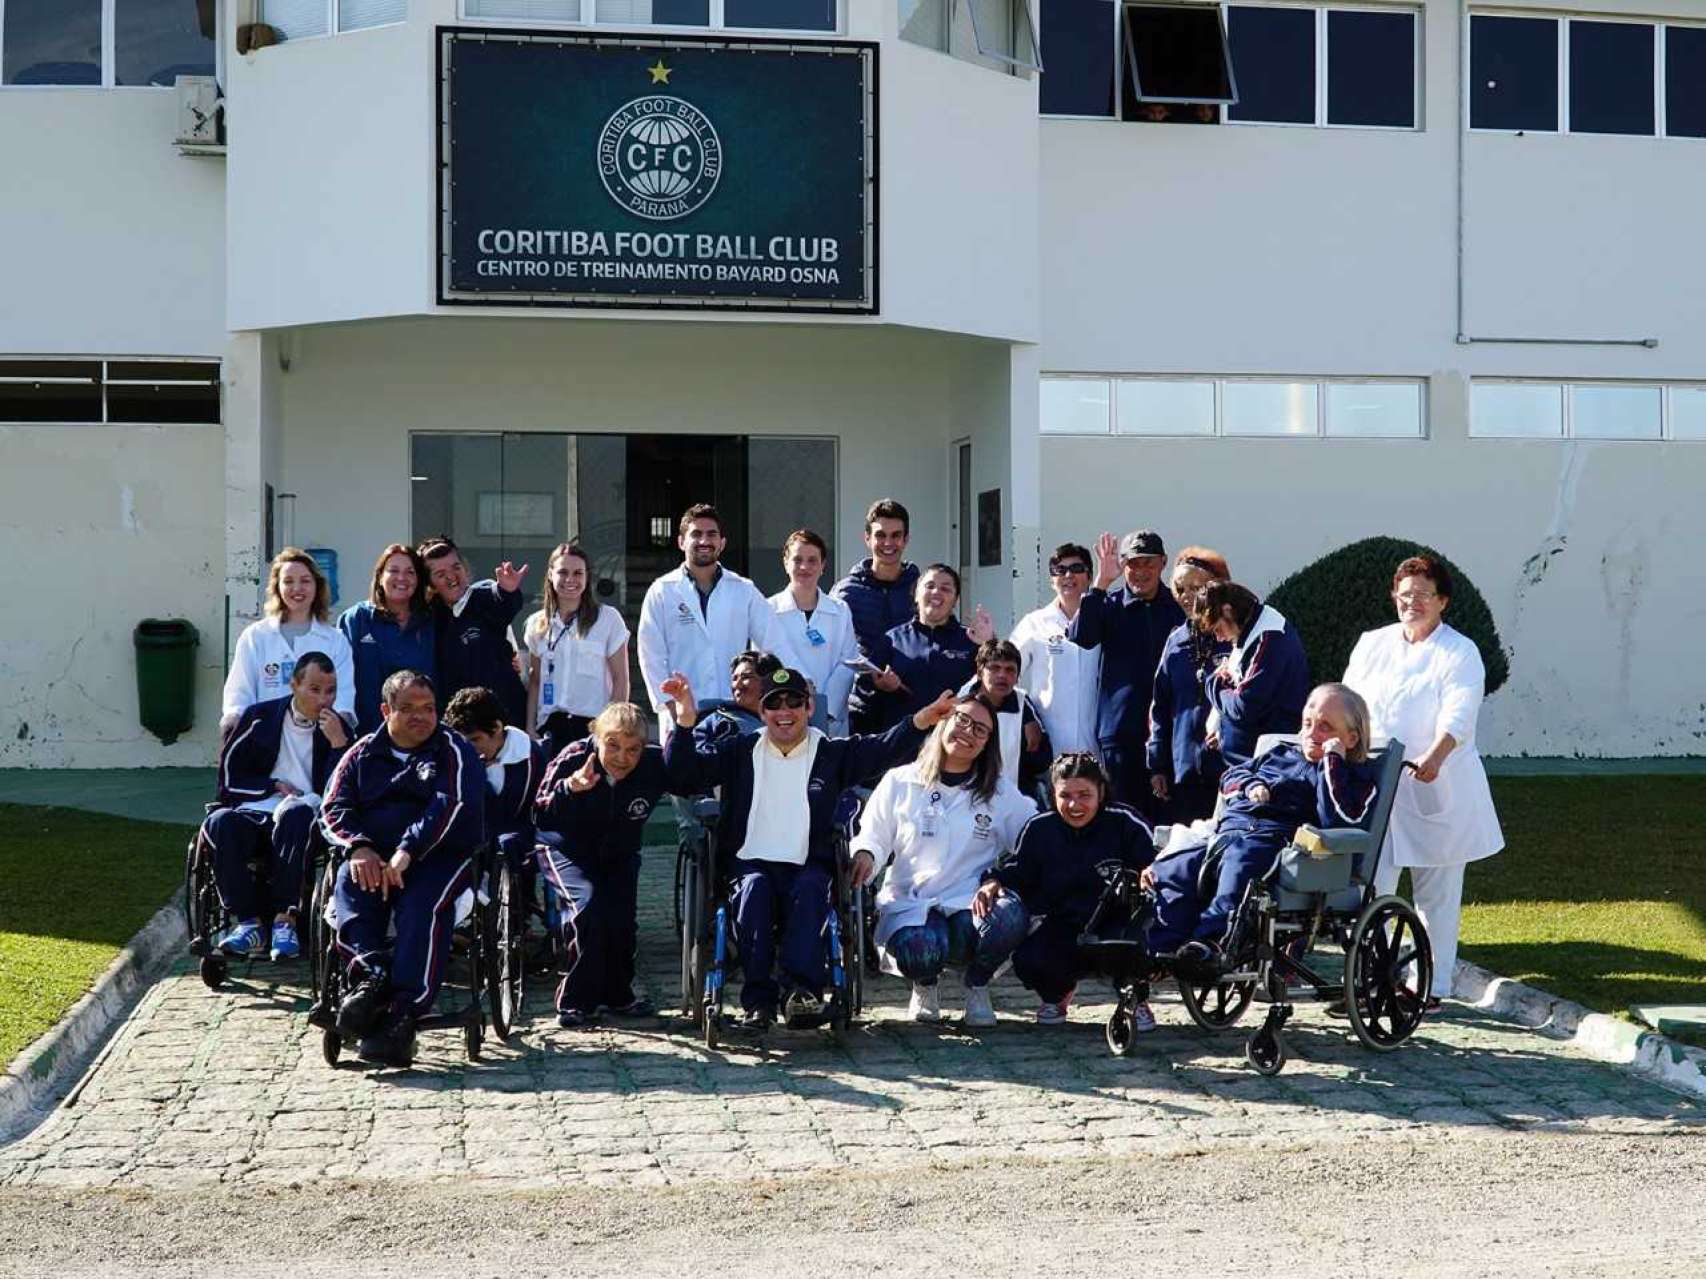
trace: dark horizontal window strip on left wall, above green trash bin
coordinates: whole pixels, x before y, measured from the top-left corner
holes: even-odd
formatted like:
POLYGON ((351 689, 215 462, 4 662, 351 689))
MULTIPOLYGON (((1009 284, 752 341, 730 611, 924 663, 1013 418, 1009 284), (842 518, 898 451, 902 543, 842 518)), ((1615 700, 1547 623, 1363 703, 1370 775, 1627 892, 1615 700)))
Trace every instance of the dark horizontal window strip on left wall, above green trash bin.
POLYGON ((0 421, 210 423, 218 365, 171 360, 0 360, 0 421))

